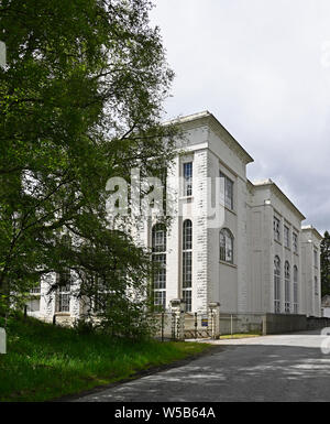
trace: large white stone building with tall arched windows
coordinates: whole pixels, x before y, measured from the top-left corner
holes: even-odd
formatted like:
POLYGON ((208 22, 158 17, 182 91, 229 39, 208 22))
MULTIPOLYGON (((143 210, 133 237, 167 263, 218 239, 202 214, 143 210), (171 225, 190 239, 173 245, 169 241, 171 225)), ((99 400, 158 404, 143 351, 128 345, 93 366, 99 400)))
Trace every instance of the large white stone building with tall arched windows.
MULTIPOLYGON (((206 313, 219 302, 221 313, 321 316, 322 237, 301 227, 305 216, 273 181, 246 178, 253 159, 211 113, 177 123, 185 140, 167 178, 176 214, 166 237, 150 219, 136 240, 163 263, 154 279, 155 303, 168 309, 172 300, 184 298, 187 312, 206 313), (220 187, 210 184, 217 177, 220 187)), ((79 316, 74 296, 61 293, 50 302, 46 286, 33 315, 79 316)))

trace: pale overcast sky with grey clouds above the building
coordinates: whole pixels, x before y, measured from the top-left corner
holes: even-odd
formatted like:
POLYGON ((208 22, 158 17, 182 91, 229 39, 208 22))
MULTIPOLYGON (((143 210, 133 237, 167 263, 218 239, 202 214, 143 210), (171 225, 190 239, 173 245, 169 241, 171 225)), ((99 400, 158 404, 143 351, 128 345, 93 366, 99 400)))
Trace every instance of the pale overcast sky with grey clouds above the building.
POLYGON ((154 0, 176 74, 166 118, 209 110, 321 232, 330 230, 330 1, 154 0))

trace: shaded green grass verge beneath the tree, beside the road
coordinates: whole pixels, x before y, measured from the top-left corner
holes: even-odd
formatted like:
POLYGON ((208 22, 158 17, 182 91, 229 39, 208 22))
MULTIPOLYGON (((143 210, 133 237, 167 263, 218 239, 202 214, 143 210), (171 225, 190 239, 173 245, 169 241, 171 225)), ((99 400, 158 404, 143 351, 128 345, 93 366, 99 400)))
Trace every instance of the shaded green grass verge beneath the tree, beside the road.
POLYGON ((7 331, 8 354, 0 355, 0 402, 46 401, 78 393, 210 348, 197 343, 134 343, 78 335, 33 318, 10 320, 7 331))

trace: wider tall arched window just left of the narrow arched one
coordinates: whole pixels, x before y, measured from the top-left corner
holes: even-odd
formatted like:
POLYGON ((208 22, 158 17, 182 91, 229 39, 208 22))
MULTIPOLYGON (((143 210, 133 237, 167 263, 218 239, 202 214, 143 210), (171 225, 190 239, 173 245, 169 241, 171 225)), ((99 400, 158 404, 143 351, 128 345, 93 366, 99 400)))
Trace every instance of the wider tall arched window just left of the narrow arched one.
POLYGON ((156 224, 152 229, 154 305, 166 307, 166 228, 156 224))

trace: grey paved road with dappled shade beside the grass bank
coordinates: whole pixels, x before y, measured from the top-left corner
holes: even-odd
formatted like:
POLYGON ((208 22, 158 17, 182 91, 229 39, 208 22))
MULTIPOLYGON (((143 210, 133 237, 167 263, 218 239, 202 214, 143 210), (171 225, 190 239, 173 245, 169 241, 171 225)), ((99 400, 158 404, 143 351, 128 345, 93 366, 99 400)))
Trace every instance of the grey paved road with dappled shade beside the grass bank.
POLYGON ((223 350, 77 401, 330 401, 330 355, 319 331, 219 340, 223 350))

